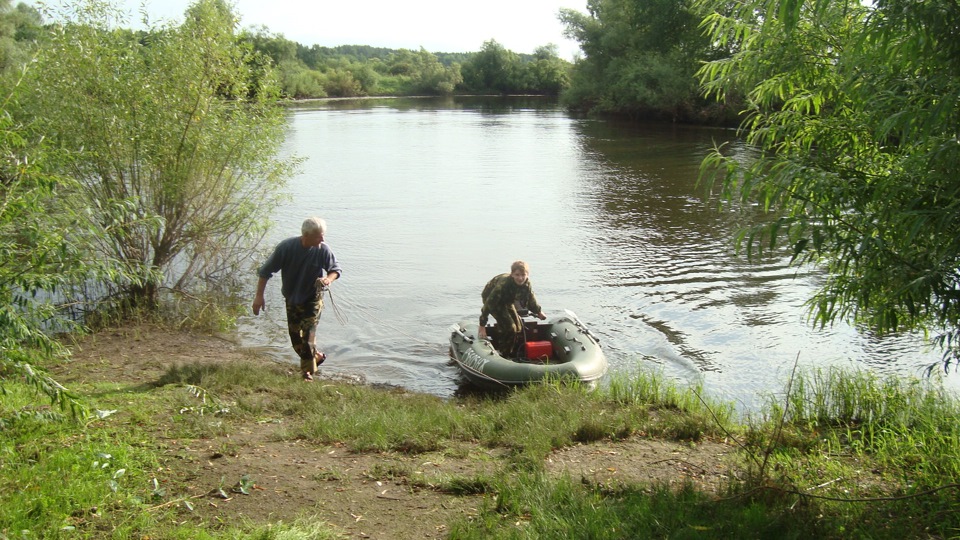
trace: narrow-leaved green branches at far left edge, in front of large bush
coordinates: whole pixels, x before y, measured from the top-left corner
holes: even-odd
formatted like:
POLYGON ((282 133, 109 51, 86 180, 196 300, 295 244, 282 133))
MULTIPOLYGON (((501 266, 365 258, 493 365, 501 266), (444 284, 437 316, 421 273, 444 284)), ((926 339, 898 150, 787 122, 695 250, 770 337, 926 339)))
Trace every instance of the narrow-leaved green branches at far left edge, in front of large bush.
POLYGON ((44 172, 39 138, 8 112, 16 90, 0 105, 0 394, 5 381, 18 378, 78 413, 66 389, 35 364, 66 353, 44 332, 71 328, 58 296, 71 283, 96 278, 103 267, 86 257, 83 231, 55 204, 68 181, 44 172))

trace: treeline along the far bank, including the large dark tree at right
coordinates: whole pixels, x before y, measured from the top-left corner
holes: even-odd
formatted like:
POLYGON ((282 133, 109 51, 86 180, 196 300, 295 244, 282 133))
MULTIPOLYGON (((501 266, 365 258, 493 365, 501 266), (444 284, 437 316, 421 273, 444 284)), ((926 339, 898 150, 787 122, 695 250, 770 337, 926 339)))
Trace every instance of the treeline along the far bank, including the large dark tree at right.
MULTIPOLYGON (((45 39, 47 25, 23 3, 0 0, 0 67, 17 68, 45 39)), ((237 32, 256 69, 272 67, 280 97, 538 94, 588 113, 687 123, 736 123, 743 101, 704 97, 697 70, 733 51, 704 37, 694 0, 590 0, 563 9, 580 43, 573 63, 556 45, 516 53, 495 40, 477 52, 431 52, 369 45, 304 45, 266 27, 237 32)), ((129 30, 118 30, 126 31, 129 30)), ((139 32, 146 42, 149 32, 139 32)), ((270 71, 270 70, 267 70, 270 71)))

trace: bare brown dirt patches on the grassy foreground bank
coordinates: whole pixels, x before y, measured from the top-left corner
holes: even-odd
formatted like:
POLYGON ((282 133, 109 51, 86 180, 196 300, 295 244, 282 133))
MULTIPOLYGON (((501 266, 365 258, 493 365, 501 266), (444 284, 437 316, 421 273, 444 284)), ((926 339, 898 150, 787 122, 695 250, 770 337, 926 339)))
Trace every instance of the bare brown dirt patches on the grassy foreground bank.
MULTIPOLYGON (((73 347, 73 358, 53 371, 68 387, 100 381, 148 385, 177 364, 233 362, 243 354, 217 337, 137 326, 83 339, 73 347)), ((296 380, 293 365, 248 360, 289 369, 296 380)), ((283 440, 279 424, 253 421, 232 422, 229 434, 209 439, 165 438, 161 447, 172 484, 168 498, 189 498, 193 507, 189 511, 178 504, 180 520, 217 524, 317 518, 348 538, 442 538, 449 523, 475 515, 483 500, 433 486, 444 478, 494 472, 498 465, 498 451, 483 447, 416 456, 354 454, 336 445, 283 440)), ((729 473, 732 454, 733 448, 716 442, 683 445, 637 437, 556 451, 546 468, 610 487, 693 481, 715 492, 729 473)))

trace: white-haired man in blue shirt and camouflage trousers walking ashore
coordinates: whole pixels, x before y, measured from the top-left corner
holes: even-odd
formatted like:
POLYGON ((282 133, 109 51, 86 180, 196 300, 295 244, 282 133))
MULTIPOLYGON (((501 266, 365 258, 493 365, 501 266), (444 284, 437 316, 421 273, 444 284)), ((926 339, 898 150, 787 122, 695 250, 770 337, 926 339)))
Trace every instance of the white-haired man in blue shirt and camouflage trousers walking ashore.
POLYGON ((253 314, 265 309, 263 292, 267 280, 280 272, 280 292, 287 307, 287 328, 293 350, 300 357, 303 380, 312 381, 317 365, 326 355, 317 351, 317 319, 323 311, 323 289, 340 277, 340 265, 330 246, 323 243, 327 224, 320 218, 307 218, 300 236, 277 244, 273 254, 257 272, 257 295, 253 314))

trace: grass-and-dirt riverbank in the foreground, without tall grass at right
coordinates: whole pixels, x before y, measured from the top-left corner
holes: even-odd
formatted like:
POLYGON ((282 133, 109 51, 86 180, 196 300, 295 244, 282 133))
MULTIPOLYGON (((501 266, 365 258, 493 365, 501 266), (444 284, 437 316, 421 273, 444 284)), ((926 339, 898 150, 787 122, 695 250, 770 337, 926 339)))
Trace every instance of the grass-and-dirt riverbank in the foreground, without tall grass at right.
MULTIPOLYGON (((223 337, 148 323, 69 348, 39 367, 89 414, 5 424, 0 537, 904 538, 954 526, 941 513, 957 504, 951 485, 917 494, 943 494, 932 505, 915 498, 907 462, 837 452, 826 427, 735 425, 655 378, 442 399, 305 383, 223 337), (848 499, 862 502, 830 502, 848 499)), ((21 386, 6 384, 2 418, 28 403, 21 386)), ((927 459, 917 467, 943 466, 927 459)))

